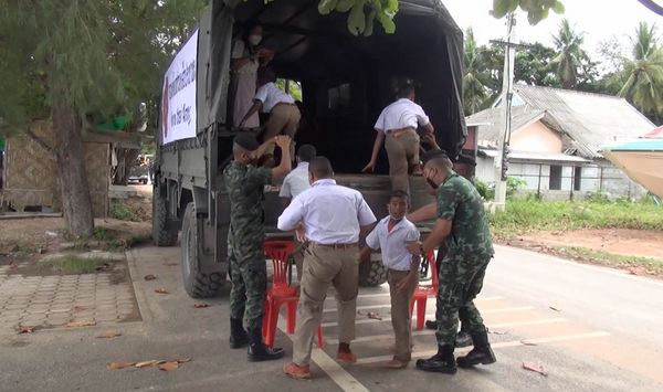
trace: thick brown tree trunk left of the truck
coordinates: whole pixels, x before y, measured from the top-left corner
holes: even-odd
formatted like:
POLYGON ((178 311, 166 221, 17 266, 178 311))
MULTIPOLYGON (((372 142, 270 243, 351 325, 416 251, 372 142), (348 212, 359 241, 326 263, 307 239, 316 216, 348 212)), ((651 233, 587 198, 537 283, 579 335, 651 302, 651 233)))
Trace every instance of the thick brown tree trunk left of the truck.
POLYGON ((53 105, 53 140, 66 229, 74 236, 91 235, 94 218, 83 160, 81 120, 66 105, 53 105))

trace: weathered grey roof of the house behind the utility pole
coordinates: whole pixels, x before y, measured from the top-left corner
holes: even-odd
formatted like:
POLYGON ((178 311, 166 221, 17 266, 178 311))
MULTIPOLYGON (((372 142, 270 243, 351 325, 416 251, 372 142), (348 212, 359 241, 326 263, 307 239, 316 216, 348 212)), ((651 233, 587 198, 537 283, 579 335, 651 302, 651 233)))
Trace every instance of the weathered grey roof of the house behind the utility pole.
MULTIPOLYGON (((535 120, 541 119, 566 134, 578 153, 586 158, 599 158, 601 146, 634 139, 654 127, 644 115, 620 97, 520 84, 514 86, 514 93, 519 98, 515 100, 524 105, 512 109, 512 131, 530 124, 537 116, 535 114, 543 113, 535 120), (523 121, 524 118, 530 121, 523 121)), ((478 140, 498 138, 495 123, 498 123, 497 115, 502 109, 495 109, 467 118, 467 124, 476 123, 475 118, 484 121, 492 119, 491 126, 478 127, 478 140)))

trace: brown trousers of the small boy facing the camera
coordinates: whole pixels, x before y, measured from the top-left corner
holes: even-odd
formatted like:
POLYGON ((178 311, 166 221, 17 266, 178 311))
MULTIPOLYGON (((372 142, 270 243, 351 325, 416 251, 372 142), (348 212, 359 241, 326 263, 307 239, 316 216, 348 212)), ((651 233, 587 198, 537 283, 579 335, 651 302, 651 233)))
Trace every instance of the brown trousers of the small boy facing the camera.
POLYGON ((408 362, 412 359, 412 318, 410 316, 410 301, 417 288, 417 279, 404 287, 401 292, 396 290, 396 285, 408 276, 407 271, 389 269, 387 282, 389 282, 389 295, 391 296, 391 326, 396 338, 396 352, 393 359, 408 362))

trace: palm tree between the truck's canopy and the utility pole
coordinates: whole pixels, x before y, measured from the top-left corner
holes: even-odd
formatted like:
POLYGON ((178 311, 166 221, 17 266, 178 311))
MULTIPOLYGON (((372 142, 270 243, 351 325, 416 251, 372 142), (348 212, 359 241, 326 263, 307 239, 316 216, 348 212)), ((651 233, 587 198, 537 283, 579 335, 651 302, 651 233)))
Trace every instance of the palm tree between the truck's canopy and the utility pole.
POLYGON ((466 115, 478 112, 488 96, 487 70, 482 62, 481 51, 472 29, 465 32, 465 75, 463 75, 463 108, 466 115))

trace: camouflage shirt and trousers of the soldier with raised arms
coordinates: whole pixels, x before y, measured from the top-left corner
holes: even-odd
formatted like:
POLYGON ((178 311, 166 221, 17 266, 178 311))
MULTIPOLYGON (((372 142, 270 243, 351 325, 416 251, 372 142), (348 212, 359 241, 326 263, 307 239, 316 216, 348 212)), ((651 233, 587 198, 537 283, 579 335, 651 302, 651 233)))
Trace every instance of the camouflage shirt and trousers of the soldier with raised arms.
POLYGON ((272 170, 235 161, 223 170, 230 200, 228 259, 230 264, 230 317, 243 319, 254 329, 264 311, 267 269, 263 251, 263 189, 272 170))

